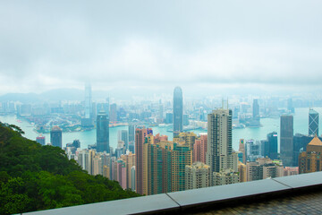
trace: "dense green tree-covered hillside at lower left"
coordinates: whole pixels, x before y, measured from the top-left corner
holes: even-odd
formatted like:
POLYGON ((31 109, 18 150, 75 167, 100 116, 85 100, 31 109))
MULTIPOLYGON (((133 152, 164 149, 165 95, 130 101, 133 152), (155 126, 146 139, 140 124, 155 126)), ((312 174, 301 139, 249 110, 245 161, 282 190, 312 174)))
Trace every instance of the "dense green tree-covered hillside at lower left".
POLYGON ((41 146, 0 123, 0 214, 139 196, 103 176, 90 176, 58 147, 41 146))

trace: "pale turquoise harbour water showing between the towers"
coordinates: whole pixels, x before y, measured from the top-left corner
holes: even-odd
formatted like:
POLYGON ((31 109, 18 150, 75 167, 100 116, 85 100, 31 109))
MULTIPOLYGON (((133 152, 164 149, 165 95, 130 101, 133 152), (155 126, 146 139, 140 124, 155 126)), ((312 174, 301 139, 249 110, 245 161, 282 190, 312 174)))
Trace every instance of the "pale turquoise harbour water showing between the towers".
MULTIPOLYGON (((315 108, 319 113, 322 113, 322 107, 315 108)), ((4 123, 14 124, 21 127, 25 132, 25 136, 30 140, 36 140, 38 133, 35 133, 33 126, 28 122, 22 120, 21 123, 18 123, 16 116, 0 116, 0 121, 4 123)), ((240 139, 254 139, 254 140, 265 140, 267 133, 277 132, 280 133, 280 119, 279 118, 262 118, 260 120, 261 127, 246 127, 243 129, 233 129, 233 150, 238 150, 238 144, 240 139)), ((308 124, 309 124, 309 108, 301 107, 295 108, 294 114, 294 134, 302 133, 308 134, 308 124)), ((319 121, 319 126, 321 127, 322 122, 319 121)), ((168 135, 169 140, 172 140, 173 134, 167 132, 169 127, 152 127, 155 134, 165 134, 168 135)), ((118 126, 110 128, 110 145, 115 149, 117 146, 117 131, 127 130, 128 126, 118 126)), ((192 130, 191 132, 207 133, 207 130, 192 130)), ((50 142, 49 133, 43 134, 46 136, 47 142, 50 142)), ((82 149, 87 149, 87 146, 94 144, 96 142, 96 129, 85 132, 73 132, 73 133, 63 133, 63 146, 66 143, 72 142, 73 140, 78 139, 81 143, 82 149)), ((279 140, 278 140, 279 141, 279 140)))

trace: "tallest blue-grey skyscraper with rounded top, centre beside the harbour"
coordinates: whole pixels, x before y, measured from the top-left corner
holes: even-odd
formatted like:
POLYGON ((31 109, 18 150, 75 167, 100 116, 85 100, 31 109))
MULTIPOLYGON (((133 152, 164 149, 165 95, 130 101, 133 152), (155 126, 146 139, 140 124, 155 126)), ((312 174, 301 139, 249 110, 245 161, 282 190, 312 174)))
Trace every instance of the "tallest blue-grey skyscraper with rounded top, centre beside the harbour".
POLYGON ((183 132, 183 101, 182 89, 176 87, 174 89, 174 137, 183 132))

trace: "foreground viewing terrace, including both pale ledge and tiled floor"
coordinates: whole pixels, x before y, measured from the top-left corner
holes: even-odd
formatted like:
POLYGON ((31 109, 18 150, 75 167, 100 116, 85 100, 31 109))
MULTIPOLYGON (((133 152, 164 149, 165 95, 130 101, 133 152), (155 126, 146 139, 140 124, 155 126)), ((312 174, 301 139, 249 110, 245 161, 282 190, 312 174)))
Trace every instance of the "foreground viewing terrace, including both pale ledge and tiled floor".
POLYGON ((23 214, 321 214, 321 178, 315 172, 23 214))

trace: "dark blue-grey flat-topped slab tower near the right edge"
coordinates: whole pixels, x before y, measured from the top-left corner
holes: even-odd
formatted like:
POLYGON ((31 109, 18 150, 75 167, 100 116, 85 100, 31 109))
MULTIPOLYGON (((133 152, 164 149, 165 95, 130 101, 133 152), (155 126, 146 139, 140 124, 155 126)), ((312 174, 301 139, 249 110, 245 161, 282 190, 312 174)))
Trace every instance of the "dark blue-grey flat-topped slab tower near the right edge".
POLYGON ((281 116, 280 155, 284 167, 292 167, 293 116, 281 116))

